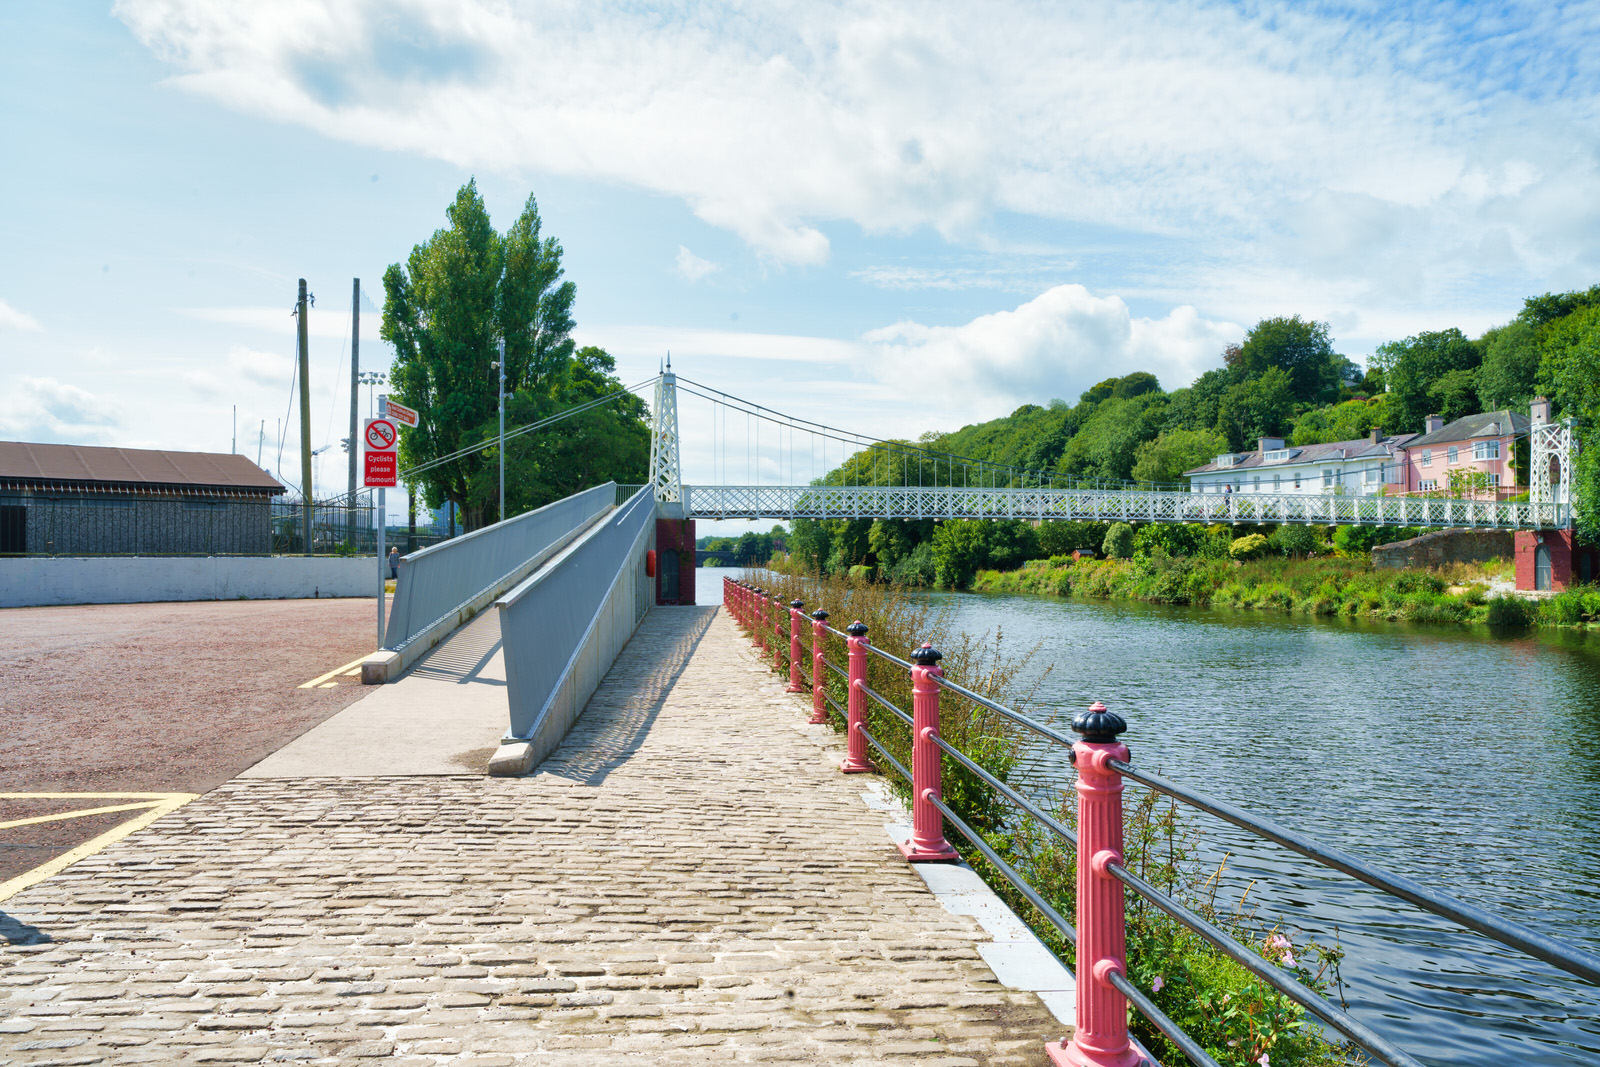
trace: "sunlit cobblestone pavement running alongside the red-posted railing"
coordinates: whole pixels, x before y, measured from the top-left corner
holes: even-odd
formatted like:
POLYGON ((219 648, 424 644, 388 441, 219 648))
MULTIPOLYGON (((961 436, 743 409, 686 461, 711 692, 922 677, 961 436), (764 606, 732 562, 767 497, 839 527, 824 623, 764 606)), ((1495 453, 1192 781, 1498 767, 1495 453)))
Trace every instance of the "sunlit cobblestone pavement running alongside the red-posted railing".
POLYGON ((3 905, 0 1064, 1043 1064, 802 718, 667 608, 531 777, 235 779, 3 905))

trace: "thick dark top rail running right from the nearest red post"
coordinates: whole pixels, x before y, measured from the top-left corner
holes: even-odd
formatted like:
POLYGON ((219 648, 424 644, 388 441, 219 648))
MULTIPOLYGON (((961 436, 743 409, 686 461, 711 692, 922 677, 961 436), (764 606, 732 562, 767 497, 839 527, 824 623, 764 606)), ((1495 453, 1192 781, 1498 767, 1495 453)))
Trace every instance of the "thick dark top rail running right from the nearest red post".
POLYGON ((1218 800, 1216 797, 1202 793, 1197 789, 1179 785, 1178 782, 1171 782, 1160 774, 1139 771, 1131 763, 1123 763, 1122 760, 1110 760, 1109 765, 1123 777, 1131 777, 1141 785, 1147 785, 1149 789, 1166 793, 1168 797, 1181 800, 1186 805, 1198 808, 1200 811, 1214 814, 1226 822, 1232 822, 1237 827, 1296 851, 1323 867, 1333 867, 1334 870, 1341 870, 1354 878, 1360 878, 1366 885, 1382 889, 1390 896, 1397 896, 1402 901, 1408 901, 1424 912, 1442 915, 1443 918, 1459 923, 1467 929, 1475 929, 1477 933, 1493 937, 1504 945, 1510 945, 1512 949, 1526 952, 1538 960, 1544 960, 1550 966, 1600 984, 1600 957, 1590 955, 1581 949, 1557 941, 1555 937, 1547 937, 1538 931, 1528 929, 1526 926, 1496 918, 1491 912, 1478 907, 1477 904, 1469 904, 1467 901, 1453 897, 1448 893, 1440 893, 1438 889, 1430 889, 1403 875, 1395 875, 1382 870, 1381 867, 1374 867, 1373 864, 1368 864, 1344 849, 1333 848, 1331 845, 1320 845, 1298 830, 1290 830, 1288 827, 1278 825, 1269 819, 1258 819, 1256 816, 1248 814, 1243 808, 1237 808, 1226 800, 1218 800))

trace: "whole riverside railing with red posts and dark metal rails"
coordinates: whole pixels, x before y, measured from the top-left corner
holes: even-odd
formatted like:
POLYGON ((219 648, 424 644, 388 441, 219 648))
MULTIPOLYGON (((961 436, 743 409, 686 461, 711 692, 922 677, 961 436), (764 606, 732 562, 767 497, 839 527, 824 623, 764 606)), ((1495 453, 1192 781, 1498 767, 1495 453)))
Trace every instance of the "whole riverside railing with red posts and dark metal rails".
MULTIPOLYGON (((739 624, 749 629, 757 640, 770 638, 768 643, 774 649, 778 661, 782 659, 784 653, 782 643, 778 640, 781 633, 778 619, 784 611, 789 613, 790 641, 787 659, 790 685, 794 685, 795 664, 800 659, 794 633, 803 625, 800 622, 805 617, 802 614, 803 605, 790 601, 786 608, 765 590, 734 579, 723 579, 723 603, 730 606, 739 624)), ((1600 957, 1594 953, 1541 934, 1536 929, 1507 921, 1469 901, 1382 870, 1352 853, 1322 845, 1298 830, 1253 816, 1226 800, 1179 785, 1160 774, 1134 768, 1128 747, 1117 739, 1118 734, 1126 731, 1126 721, 1099 702, 1074 717, 1072 731, 1078 737, 1069 737, 1053 726, 1032 720, 946 678, 938 665, 941 654, 931 645, 925 643, 914 649, 910 654, 912 662, 907 662, 872 646, 867 640, 867 627, 861 622, 853 622, 840 632, 827 625, 826 619, 827 613, 824 611, 816 611, 811 616, 811 721, 818 721, 818 709, 822 705, 822 701, 843 715, 846 723, 846 757, 840 765, 840 771, 850 774, 874 769, 867 755, 867 747, 870 745, 888 766, 910 782, 912 837, 906 845, 901 845, 906 857, 910 862, 952 862, 960 859, 944 838, 944 824, 949 822, 1075 947, 1077 1027, 1070 1040, 1051 1041, 1046 1046, 1053 1064, 1136 1067, 1136 1064, 1142 1062, 1144 1056, 1128 1033, 1126 1006, 1131 1003, 1176 1048, 1182 1049, 1194 1064, 1198 1067, 1216 1067, 1216 1061, 1205 1048, 1173 1022, 1150 1000, 1150 995, 1128 981, 1126 920, 1123 912, 1123 889, 1126 888, 1210 942, 1278 993, 1301 1005, 1325 1027, 1344 1035, 1352 1045, 1373 1056, 1378 1062, 1390 1064, 1392 1067, 1421 1067, 1405 1049, 1352 1017, 1317 990, 1304 985, 1291 973, 1262 958, 1195 910, 1128 870, 1123 865, 1123 779, 1139 782, 1173 800, 1250 830, 1264 840, 1290 848, 1317 864, 1352 875, 1426 912, 1448 918, 1589 982, 1600 984, 1600 957), (829 635, 845 641, 848 653, 846 667, 840 667, 827 659, 826 641, 829 635), (867 685, 869 656, 877 656, 910 673, 910 715, 867 685), (826 691, 819 697, 819 686, 814 681, 827 677, 822 673, 824 670, 834 672, 845 681, 846 707, 840 709, 837 701, 826 691), (1069 749, 1070 761, 1077 768, 1077 832, 1062 825, 1059 819, 1043 811, 1037 803, 986 771, 978 761, 955 749, 939 734, 939 694, 944 691, 979 704, 1032 731, 1038 737, 1069 749), (910 728, 910 769, 896 760, 880 739, 867 731, 869 699, 910 728), (944 801, 941 789, 944 757, 950 757, 963 769, 997 790, 1014 808, 1037 819, 1040 825, 1072 846, 1077 854, 1077 926, 1051 907, 1034 886, 990 848, 981 833, 970 827, 944 801)), ((774 665, 782 667, 781 662, 774 662, 774 665)), ((826 686, 821 688, 826 689, 826 686)))

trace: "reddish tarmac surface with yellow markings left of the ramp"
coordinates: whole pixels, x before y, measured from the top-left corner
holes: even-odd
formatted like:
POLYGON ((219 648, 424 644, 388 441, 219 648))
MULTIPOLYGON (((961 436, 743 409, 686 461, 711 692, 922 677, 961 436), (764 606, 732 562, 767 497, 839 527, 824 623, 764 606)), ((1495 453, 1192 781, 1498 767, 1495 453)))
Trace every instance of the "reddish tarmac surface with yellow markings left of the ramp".
MULTIPOLYGON (((363 696, 371 600, 0 611, 0 793, 203 793, 363 696)), ((115 800, 0 800, 0 822, 115 800)), ((133 813, 0 829, 0 881, 133 813)))

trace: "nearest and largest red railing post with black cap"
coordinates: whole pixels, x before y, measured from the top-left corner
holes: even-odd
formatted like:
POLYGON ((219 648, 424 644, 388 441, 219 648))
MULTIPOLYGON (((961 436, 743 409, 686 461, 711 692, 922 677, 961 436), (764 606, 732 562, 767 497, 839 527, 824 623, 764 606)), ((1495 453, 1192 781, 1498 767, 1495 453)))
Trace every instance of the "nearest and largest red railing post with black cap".
POLYGON ((1128 729, 1122 715, 1094 702, 1072 720, 1080 734, 1072 745, 1078 769, 1078 1024, 1072 1041, 1046 1048, 1053 1064, 1072 1067, 1134 1067, 1142 1056, 1128 1040, 1128 1000, 1110 974, 1128 974, 1122 883, 1110 864, 1122 862, 1122 776, 1110 760, 1128 760, 1117 734, 1128 729))

